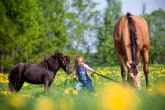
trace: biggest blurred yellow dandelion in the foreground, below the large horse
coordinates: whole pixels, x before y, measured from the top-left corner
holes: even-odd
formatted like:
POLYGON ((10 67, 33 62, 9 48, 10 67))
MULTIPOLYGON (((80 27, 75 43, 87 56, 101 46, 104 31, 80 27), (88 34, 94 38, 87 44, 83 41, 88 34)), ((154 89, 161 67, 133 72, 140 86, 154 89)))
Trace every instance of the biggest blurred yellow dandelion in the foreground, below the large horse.
POLYGON ((117 84, 107 86, 100 97, 103 107, 107 110, 133 110, 139 103, 135 91, 117 84))

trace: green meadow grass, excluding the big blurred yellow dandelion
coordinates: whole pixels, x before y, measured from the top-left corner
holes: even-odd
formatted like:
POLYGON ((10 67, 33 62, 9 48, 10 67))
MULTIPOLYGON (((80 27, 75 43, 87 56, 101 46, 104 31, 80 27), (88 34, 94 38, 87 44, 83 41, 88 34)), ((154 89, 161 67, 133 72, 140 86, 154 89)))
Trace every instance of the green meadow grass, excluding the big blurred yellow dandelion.
MULTIPOLYGON (((104 74, 110 78, 113 78, 115 80, 121 81, 120 76, 120 69, 118 66, 115 67, 97 67, 95 70, 101 74, 104 74)), ((136 107, 136 109, 139 110, 163 110, 165 109, 164 100, 165 100, 165 91, 164 93, 159 92, 157 90, 157 85, 159 82, 165 82, 165 65, 151 65, 150 66, 150 84, 152 85, 152 90, 147 91, 145 88, 145 77, 141 70, 141 82, 142 82, 142 90, 135 91, 136 95, 138 96, 140 100, 140 104, 136 107)), ((1 93, 0 96, 0 108, 1 109, 37 109, 36 106, 40 105, 38 104, 42 100, 48 100, 47 102, 53 101, 53 107, 54 109, 74 109, 74 110, 101 110, 101 109, 107 109, 104 108, 104 101, 101 101, 102 94, 100 94, 106 85, 113 85, 112 81, 109 81, 107 79, 104 79, 102 77, 99 77, 95 75, 94 78, 92 78, 93 86, 95 88, 95 93, 89 93, 86 88, 84 88, 78 95, 74 95, 72 91, 74 90, 74 86, 76 85, 76 82, 70 83, 71 76, 69 76, 66 86, 64 86, 66 74, 60 70, 54 82, 52 83, 49 93, 46 94, 44 92, 43 85, 32 85, 28 84, 27 86, 23 86, 21 91, 18 93, 18 95, 21 97, 25 97, 25 103, 23 106, 20 107, 13 107, 12 104, 10 104, 10 95, 4 95, 1 93), (68 90, 70 91, 69 94, 66 94, 64 91, 68 90), (45 98, 45 99, 44 99, 45 98)), ((163 83, 165 84, 165 83, 163 83)), ((165 85, 161 86, 165 87, 165 85)), ((7 89, 7 84, 3 83, 0 84, 0 91, 5 91, 7 89)), ((108 88, 107 88, 108 89, 108 88)), ((161 90, 164 90, 162 88, 158 88, 161 90)), ((112 90, 113 91, 113 90, 112 90)), ((114 90, 115 91, 115 90, 114 90)), ((117 90, 116 90, 117 91, 117 90)), ((129 94, 129 93, 128 93, 129 94)), ((17 96, 17 95, 16 95, 17 96)), ((111 96, 110 96, 111 97, 111 96)), ((105 101, 108 101, 105 99, 105 101)), ((113 97, 113 96, 112 96, 113 97)), ((120 97, 116 97, 119 98, 120 97)), ((21 99, 20 99, 21 100, 21 99)), ((41 104, 42 105, 42 104, 41 104)), ((111 104, 110 104, 111 105, 111 104)), ((47 105, 45 105, 47 106, 47 105)), ((51 106, 48 103, 48 107, 51 106)), ((120 106, 120 105, 119 105, 120 106)))

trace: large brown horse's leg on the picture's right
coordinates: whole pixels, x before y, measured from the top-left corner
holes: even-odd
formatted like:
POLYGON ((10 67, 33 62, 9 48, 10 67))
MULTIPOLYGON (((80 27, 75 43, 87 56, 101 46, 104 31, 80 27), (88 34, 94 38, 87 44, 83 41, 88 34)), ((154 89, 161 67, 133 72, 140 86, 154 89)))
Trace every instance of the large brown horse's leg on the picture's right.
POLYGON ((149 68, 148 68, 148 49, 144 48, 142 50, 142 57, 143 57, 143 62, 144 62, 144 67, 143 67, 143 71, 145 74, 145 78, 146 78, 146 87, 149 87, 149 79, 148 79, 148 74, 149 74, 149 68))

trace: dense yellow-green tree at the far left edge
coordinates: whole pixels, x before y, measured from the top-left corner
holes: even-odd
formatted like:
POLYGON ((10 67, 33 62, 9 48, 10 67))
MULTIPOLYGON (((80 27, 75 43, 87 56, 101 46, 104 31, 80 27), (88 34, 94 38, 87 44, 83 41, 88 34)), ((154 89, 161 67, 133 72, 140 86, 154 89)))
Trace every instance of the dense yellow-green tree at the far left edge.
POLYGON ((26 61, 31 54, 33 40, 39 36, 37 19, 40 18, 40 13, 35 1, 2 0, 0 5, 3 7, 0 17, 0 65, 9 69, 16 62, 26 61))

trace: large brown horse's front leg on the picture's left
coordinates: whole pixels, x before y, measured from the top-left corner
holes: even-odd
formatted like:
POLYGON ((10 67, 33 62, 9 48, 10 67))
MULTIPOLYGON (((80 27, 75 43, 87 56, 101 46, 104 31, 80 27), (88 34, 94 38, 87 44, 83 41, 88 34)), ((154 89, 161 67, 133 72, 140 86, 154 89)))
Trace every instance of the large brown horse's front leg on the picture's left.
POLYGON ((124 69, 123 56, 119 52, 117 52, 117 58, 118 58, 118 61, 120 64, 121 77, 122 77, 123 82, 125 82, 126 81, 126 72, 124 69))

